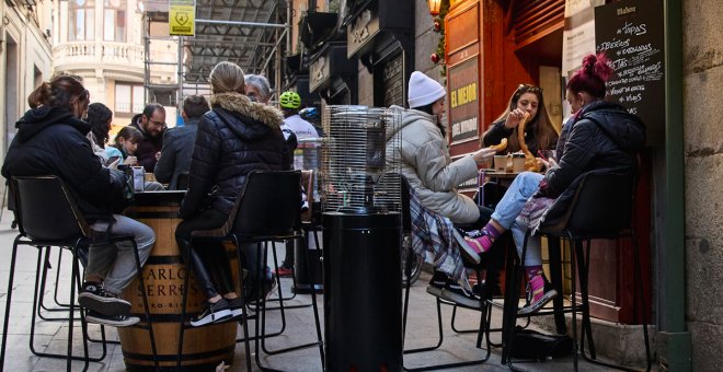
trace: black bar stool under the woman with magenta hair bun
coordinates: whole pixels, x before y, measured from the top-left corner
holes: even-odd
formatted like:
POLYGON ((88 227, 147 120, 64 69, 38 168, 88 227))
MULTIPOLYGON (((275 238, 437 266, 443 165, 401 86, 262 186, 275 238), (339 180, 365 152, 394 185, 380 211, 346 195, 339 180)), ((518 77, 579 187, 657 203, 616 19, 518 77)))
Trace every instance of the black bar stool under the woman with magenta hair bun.
MULTIPOLYGON (((576 263, 579 276, 575 275, 575 265, 572 265, 572 305, 553 311, 554 312, 570 312, 572 313, 572 338, 573 338, 573 362, 574 369, 577 371, 577 312, 582 311, 582 334, 581 334, 581 354, 585 360, 590 363, 600 364, 607 368, 635 371, 634 369, 606 363, 597 360, 595 352, 595 345, 593 340, 593 330, 589 317, 589 301, 588 301, 588 268, 589 268, 589 249, 590 241, 593 239, 607 239, 620 240, 630 239, 633 243, 634 249, 634 281, 638 282, 635 288, 639 297, 635 300, 640 301, 640 306, 645 304, 645 293, 643 291, 643 283, 641 280, 642 264, 640 261, 640 249, 635 240, 634 231, 632 229, 632 206, 634 196, 635 182, 634 177, 629 174, 613 174, 613 173, 595 173, 588 172, 578 177, 578 186, 570 206, 561 213, 561 217, 554 221, 543 221, 539 228, 538 233, 544 234, 549 237, 565 239, 571 244, 571 257, 573 263, 576 263), (583 252, 583 242, 586 242, 586 252, 583 252), (576 303, 575 286, 576 280, 579 280, 582 304, 576 303), (584 345, 587 338, 589 342, 588 357, 585 353, 584 345)), ((554 208, 552 206, 551 208, 554 208)), ((523 246, 521 258, 515 265, 515 271, 519 270, 520 263, 525 261, 527 253, 527 242, 530 236, 528 231, 525 236, 523 246)), ((518 306, 518 288, 520 275, 515 272, 510 278, 514 283, 508 286, 513 289, 509 297, 505 298, 505 323, 504 328, 506 333, 505 350, 503 351, 503 363, 506 357, 507 364, 514 369, 512 361, 512 353, 514 348, 514 329, 517 317, 518 306), (515 284, 517 283, 517 284, 515 284), (517 290, 515 290, 517 289, 517 290), (509 304, 509 305, 508 305, 509 304)), ((560 294, 561 295, 561 294, 560 294)), ((544 315, 550 312, 538 312, 532 315, 544 315)), ((641 312, 643 324, 643 337, 645 342, 645 357, 646 370, 651 369, 651 350, 650 340, 647 335, 647 315, 643 309, 641 312)))

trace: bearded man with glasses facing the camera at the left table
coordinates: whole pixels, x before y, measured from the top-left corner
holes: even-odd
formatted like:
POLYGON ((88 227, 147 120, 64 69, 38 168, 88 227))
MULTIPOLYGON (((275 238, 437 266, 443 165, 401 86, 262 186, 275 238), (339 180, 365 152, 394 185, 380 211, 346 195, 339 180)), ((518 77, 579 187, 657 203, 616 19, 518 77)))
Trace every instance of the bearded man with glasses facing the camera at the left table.
POLYGON ((130 126, 144 133, 144 140, 138 142, 138 150, 136 150, 138 164, 142 165, 147 173, 152 173, 163 147, 163 132, 167 127, 165 108, 158 103, 152 103, 144 108, 138 120, 130 126))

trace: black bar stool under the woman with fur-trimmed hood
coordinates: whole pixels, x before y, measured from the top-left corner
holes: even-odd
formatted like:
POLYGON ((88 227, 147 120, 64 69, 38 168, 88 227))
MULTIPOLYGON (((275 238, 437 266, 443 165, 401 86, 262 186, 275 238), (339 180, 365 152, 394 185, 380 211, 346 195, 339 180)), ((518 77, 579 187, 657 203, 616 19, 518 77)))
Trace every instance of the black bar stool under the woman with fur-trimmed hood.
MULTIPOLYGON (((239 263, 242 261, 241 251, 238 247, 241 244, 256 244, 256 248, 260 251, 257 255, 257 267, 262 267, 262 257, 267 255, 267 245, 262 245, 262 243, 267 242, 277 242, 277 241, 289 241, 306 237, 301 233, 300 229, 300 208, 301 208, 301 189, 300 189, 300 173, 298 171, 254 171, 251 172, 246 178, 246 184, 244 185, 241 194, 239 195, 237 202, 229 216, 229 220, 220 228, 213 230, 203 230, 194 231, 192 233, 192 241, 197 239, 218 239, 222 241, 232 241, 237 246, 237 259, 239 263)), ((302 240, 306 248, 306 239, 302 240)), ((305 252, 307 252, 305 249, 305 252)), ((308 257, 307 257, 308 258, 308 257)), ((307 259, 307 265, 308 265, 307 259)), ((190 270, 192 268, 190 267, 190 270)), ((241 272, 241 265, 239 265, 239 280, 241 281, 241 288, 243 288, 243 274, 241 272)), ((257 270, 256 280, 257 288, 261 288, 262 284, 262 272, 263 270, 257 270)), ((182 314, 185 322, 186 315, 186 300, 187 300, 187 281, 188 276, 186 276, 182 302, 182 314)), ((282 295, 282 293, 279 293, 282 295)), ((240 297, 243 301, 244 295, 240 297)), ((319 347, 319 353, 321 357, 321 365, 323 369, 324 365, 324 351, 323 351, 323 341, 321 337, 321 323, 319 321, 319 309, 317 306, 317 297, 315 293, 311 293, 311 307, 313 310, 314 325, 317 332, 317 340, 303 345, 291 346, 277 350, 268 350, 265 346, 266 335, 265 329, 265 299, 261 291, 259 291, 257 303, 259 314, 256 315, 255 324, 255 336, 254 336, 254 349, 255 349, 255 362, 262 370, 268 370, 268 368, 261 364, 260 360, 260 344, 262 350, 266 354, 278 354, 289 351, 299 350, 302 348, 309 347, 319 347), (261 318, 261 322, 259 321, 261 318), (260 341, 261 340, 261 341, 260 341)), ((279 307, 284 310, 283 301, 279 301, 279 307)), ((250 340, 248 319, 249 314, 246 311, 246 304, 243 303, 243 313, 242 322, 243 334, 244 334, 244 346, 246 353, 246 370, 251 371, 251 351, 250 351, 250 340)), ((184 324, 181 327, 180 332, 180 348, 183 347, 183 334, 186 325, 184 324)), ((180 363, 181 351, 179 350, 177 363, 180 363)), ((177 365, 177 364, 176 364, 177 365)))

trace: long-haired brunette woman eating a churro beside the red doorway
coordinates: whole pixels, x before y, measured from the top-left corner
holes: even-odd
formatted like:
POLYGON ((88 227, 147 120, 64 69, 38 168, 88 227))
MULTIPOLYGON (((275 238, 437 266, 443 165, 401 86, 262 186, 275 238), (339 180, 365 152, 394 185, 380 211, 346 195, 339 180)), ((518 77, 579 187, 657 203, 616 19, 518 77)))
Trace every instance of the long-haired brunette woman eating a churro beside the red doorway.
POLYGON ((530 117, 525 126, 525 143, 530 152, 536 155, 538 150, 554 149, 558 131, 552 126, 550 115, 544 107, 542 89, 529 84, 520 84, 513 93, 505 112, 482 135, 482 143, 489 147, 506 138, 507 148, 501 152, 520 151, 517 127, 525 114, 529 114, 530 117))

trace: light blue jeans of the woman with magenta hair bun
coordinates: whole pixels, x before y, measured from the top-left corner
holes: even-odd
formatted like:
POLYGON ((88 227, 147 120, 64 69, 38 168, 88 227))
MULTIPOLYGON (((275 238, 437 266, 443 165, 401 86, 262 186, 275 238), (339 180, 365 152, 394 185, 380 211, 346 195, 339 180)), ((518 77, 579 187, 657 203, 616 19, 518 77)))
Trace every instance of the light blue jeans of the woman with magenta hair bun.
MULTIPOLYGON (((523 243, 527 225, 520 225, 516 219, 527 200, 537 193, 543 176, 539 173, 523 172, 513 181, 507 193, 502 197, 492 213, 492 219, 500 223, 505 230, 512 230, 517 254, 523 255, 523 243)), ((530 236, 527 242, 527 254, 525 255, 525 267, 542 265, 540 255, 540 236, 530 236)))

